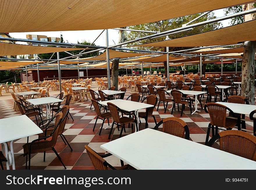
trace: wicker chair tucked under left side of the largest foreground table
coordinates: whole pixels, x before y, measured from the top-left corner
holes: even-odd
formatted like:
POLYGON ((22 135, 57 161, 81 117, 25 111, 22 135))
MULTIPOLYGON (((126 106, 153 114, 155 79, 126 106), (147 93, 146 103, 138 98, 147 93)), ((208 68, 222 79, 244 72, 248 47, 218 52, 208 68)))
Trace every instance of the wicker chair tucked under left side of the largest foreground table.
MULTIPOLYGON (((93 164, 93 167, 96 170, 107 170, 108 167, 115 170, 115 168, 112 165, 110 165, 106 160, 104 160, 104 158, 111 156, 112 154, 108 153, 104 155, 99 155, 97 152, 95 152, 93 149, 91 149, 87 145, 85 145, 84 148, 86 149, 86 152, 93 164)), ((135 168, 131 167, 130 165, 124 165, 119 169, 135 169, 135 168)))

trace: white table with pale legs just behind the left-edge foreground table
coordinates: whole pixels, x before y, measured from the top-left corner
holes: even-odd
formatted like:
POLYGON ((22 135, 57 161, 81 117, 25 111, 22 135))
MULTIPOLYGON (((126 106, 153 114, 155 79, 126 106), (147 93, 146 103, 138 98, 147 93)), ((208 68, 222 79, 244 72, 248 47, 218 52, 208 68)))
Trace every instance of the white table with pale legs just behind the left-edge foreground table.
POLYGON ((33 105, 46 105, 46 116, 47 119, 50 118, 51 110, 50 110, 50 105, 51 103, 56 103, 56 102, 62 102, 63 100, 58 99, 58 98, 53 98, 53 97, 45 97, 45 98, 35 98, 35 99, 29 99, 27 102, 33 104, 33 105))

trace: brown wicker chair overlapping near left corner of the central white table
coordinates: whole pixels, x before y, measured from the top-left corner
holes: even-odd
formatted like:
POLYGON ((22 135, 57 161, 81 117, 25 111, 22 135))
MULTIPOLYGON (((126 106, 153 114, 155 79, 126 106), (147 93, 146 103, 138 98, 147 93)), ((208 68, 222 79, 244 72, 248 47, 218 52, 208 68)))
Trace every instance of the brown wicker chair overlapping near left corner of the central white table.
MULTIPOLYGON (((107 105, 108 105, 108 107, 109 107, 109 110, 110 110, 110 113, 111 113, 111 116, 112 116, 112 120, 113 120, 111 129, 110 129, 110 133, 109 133, 109 139, 110 139, 110 136, 111 136, 111 134, 112 134, 112 130, 113 130, 114 124, 117 125, 118 131, 119 131, 119 124, 122 125, 119 138, 122 136, 123 130, 125 131, 125 125, 126 125, 126 124, 129 124, 129 123, 131 123, 131 122, 135 122, 135 124, 136 124, 136 129, 137 129, 137 131, 138 131, 138 125, 137 125, 136 117, 135 117, 135 119, 129 118, 129 117, 121 117, 121 118, 120 118, 118 111, 122 111, 122 110, 121 110, 120 108, 118 108, 116 105, 114 105, 114 104, 112 104, 112 103, 110 103, 110 102, 108 102, 107 105)), ((125 132, 126 132, 126 131, 125 131, 125 132)))

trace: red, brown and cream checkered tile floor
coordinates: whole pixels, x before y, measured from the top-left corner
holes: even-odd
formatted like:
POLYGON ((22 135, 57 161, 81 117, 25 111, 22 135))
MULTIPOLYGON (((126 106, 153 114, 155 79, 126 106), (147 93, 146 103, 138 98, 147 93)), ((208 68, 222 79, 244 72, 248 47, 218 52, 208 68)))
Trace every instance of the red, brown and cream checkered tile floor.
MULTIPOLYGON (((95 83, 93 84, 93 89, 97 88, 95 87, 95 83)), ((55 94, 58 92, 55 91, 55 94)), ((125 99, 134 92, 131 92, 130 89, 127 89, 127 92, 125 94, 125 99)), ((53 94, 53 93, 50 93, 53 94)), ((55 95, 51 95, 55 96, 55 95)), ((11 97, 10 97, 11 98, 11 97)), ((205 102, 203 100, 202 102, 205 102)), ((90 146, 93 150, 100 154, 106 153, 103 149, 100 148, 100 145, 109 142, 108 135, 110 132, 110 129, 102 130, 101 135, 99 136, 99 127, 101 126, 101 120, 97 121, 96 129, 93 131, 93 126, 96 120, 96 113, 94 109, 90 109, 90 101, 84 101, 83 103, 70 103, 70 113, 74 118, 74 121, 72 119, 67 120, 67 124, 65 126, 64 135, 66 136, 68 142, 70 142, 70 145, 73 148, 73 151, 70 150, 70 148, 63 143, 60 137, 58 137, 57 143, 55 145, 55 149, 61 156, 61 159, 67 169, 94 169, 91 161, 84 149, 84 145, 90 146)), ((204 103, 203 103, 204 106, 204 103)), ((172 107, 172 104, 168 105, 168 109, 172 107)), ((193 111, 194 108, 192 108, 193 111)), ((201 112, 196 112, 195 114, 191 115, 189 111, 189 107, 186 106, 184 114, 182 117, 180 117, 180 112, 177 111, 173 112, 173 115, 170 114, 170 111, 167 110, 166 113, 164 113, 163 104, 160 104, 159 110, 154 110, 154 115, 156 117, 157 122, 161 121, 163 118, 167 117, 178 117, 184 120, 190 131, 190 140, 198 143, 204 144, 205 138, 206 138, 206 131, 207 127, 210 121, 209 114, 205 113, 204 110, 201 110, 201 112)), ((144 111, 144 110, 140 110, 144 111)), ((6 117, 13 117, 20 115, 19 112, 15 112, 13 110, 13 100, 1 100, 0 97, 0 118, 6 118, 6 117)), ((111 122, 111 119, 110 119, 111 122)), ((145 120, 141 119, 141 122, 139 124, 139 130, 145 129, 145 120)), ((155 126, 154 119, 149 118, 149 127, 153 128, 155 126)), ((104 127, 108 126, 107 121, 104 123, 104 127)), ((247 123, 247 129, 252 130, 252 123, 247 123)), ((127 127, 127 126, 126 126, 127 127)), ((161 130, 161 128, 159 129, 161 130)), ((131 129, 127 128, 126 133, 123 132, 123 136, 131 134, 134 131, 131 131, 131 129)), ((115 140, 119 137, 120 132, 115 129, 112 132, 111 140, 115 140)), ((38 136, 30 136, 29 141, 32 141, 34 139, 38 138, 38 136)), ((16 140, 14 142, 14 151, 15 152, 22 152, 22 145, 26 143, 26 138, 22 138, 19 140, 16 140)), ((215 143, 214 147, 218 147, 218 145, 215 143)), ((125 151, 125 148, 124 148, 125 151)), ((131 153, 132 154, 132 153, 131 153)), ((106 158, 106 160, 113 165, 114 167, 120 166, 120 160, 116 158, 115 156, 110 156, 106 158)), ((15 165, 16 169, 25 169, 25 162, 26 157, 23 157, 22 155, 15 155, 15 165)), ((33 154, 31 156, 31 169, 64 169, 61 165, 61 162, 58 160, 56 155, 53 151, 47 151, 46 153, 46 160, 43 161, 43 153, 33 154)))

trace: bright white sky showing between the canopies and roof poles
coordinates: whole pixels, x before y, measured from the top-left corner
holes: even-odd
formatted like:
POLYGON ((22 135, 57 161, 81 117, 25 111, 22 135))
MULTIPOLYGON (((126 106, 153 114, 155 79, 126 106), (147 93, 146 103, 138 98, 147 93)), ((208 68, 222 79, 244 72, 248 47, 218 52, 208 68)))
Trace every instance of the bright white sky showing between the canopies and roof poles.
MULTIPOLYGON (((213 11, 216 17, 224 16, 223 9, 213 11)), ((222 21, 223 27, 230 25, 230 20, 222 21)), ((102 30, 81 30, 81 31, 56 31, 56 32, 15 32, 10 33, 10 36, 18 39, 26 39, 26 34, 36 34, 36 35, 45 35, 48 37, 60 37, 63 35, 64 41, 69 43, 77 43, 77 41, 87 41, 93 42, 97 36, 102 32, 102 30)), ((118 43, 118 30, 109 30, 109 45, 114 45, 118 43)), ((26 42, 16 42, 19 44, 26 44, 26 42)), ((95 45, 106 46, 105 43, 105 32, 103 32, 99 38, 95 41, 95 45)))

